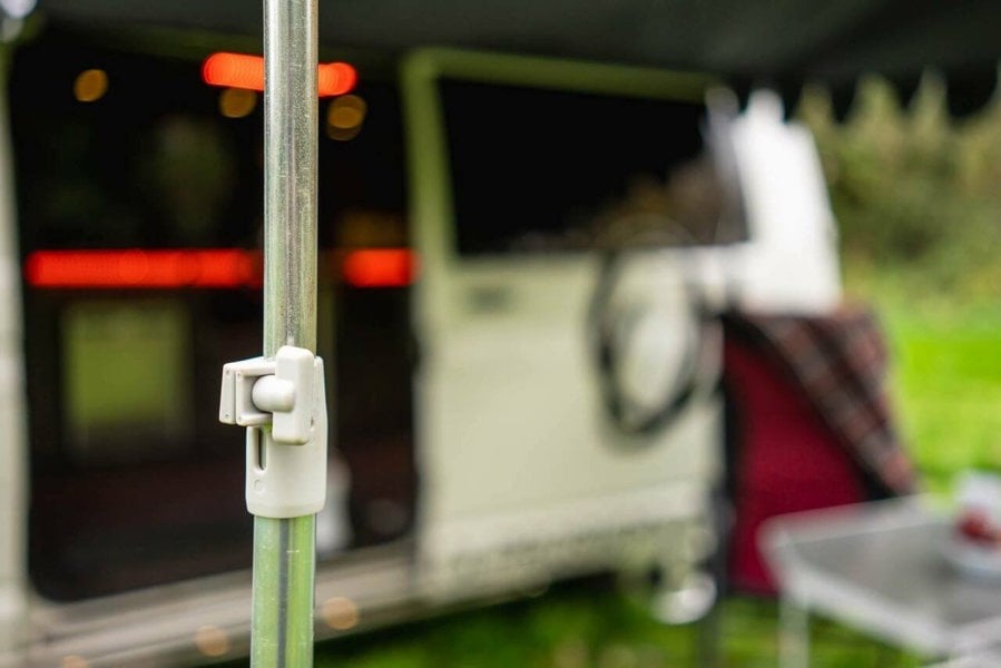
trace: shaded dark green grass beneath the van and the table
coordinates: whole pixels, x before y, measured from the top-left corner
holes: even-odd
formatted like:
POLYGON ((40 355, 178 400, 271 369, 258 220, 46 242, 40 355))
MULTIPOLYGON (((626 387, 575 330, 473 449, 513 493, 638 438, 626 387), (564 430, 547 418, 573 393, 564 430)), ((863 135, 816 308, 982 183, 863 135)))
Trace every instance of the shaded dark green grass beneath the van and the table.
MULTIPOLYGON (((777 660, 777 606, 728 598, 720 607, 719 665, 765 668, 777 660)), ((668 668, 706 665, 699 625, 667 627, 624 592, 567 584, 531 600, 336 640, 317 668, 668 668)), ((832 622, 814 625, 817 667, 910 667, 914 657, 832 622)))

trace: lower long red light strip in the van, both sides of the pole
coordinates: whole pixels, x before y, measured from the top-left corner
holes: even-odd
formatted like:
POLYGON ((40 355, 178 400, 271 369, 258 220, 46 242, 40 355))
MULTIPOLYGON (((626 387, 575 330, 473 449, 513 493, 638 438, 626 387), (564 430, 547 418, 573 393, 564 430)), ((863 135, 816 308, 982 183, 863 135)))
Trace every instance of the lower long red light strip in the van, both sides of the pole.
MULTIPOLYGON (((36 288, 181 289, 261 287, 262 255, 242 248, 36 250, 24 279, 36 288)), ((408 248, 352 250, 341 265, 353 287, 405 287, 418 274, 408 248)))

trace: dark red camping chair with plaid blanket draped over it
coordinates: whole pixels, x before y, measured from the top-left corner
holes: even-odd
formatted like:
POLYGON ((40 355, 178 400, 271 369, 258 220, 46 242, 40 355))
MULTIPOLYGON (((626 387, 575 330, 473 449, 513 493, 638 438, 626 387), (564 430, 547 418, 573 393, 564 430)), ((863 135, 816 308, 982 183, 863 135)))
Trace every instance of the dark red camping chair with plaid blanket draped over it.
POLYGON ((866 308, 823 316, 732 312, 724 322, 729 518, 723 590, 774 595, 757 546, 766 519, 914 491, 866 308))

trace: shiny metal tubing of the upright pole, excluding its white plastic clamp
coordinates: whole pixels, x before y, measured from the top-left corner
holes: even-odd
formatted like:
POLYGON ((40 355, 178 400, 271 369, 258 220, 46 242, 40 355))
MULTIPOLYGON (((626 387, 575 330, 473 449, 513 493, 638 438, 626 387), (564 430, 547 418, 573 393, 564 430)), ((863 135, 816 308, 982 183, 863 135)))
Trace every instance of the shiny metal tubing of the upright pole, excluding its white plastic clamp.
MULTIPOLYGON (((264 355, 316 352, 316 6, 264 2, 264 355)), ((315 515, 254 518, 251 665, 313 665, 315 515)))

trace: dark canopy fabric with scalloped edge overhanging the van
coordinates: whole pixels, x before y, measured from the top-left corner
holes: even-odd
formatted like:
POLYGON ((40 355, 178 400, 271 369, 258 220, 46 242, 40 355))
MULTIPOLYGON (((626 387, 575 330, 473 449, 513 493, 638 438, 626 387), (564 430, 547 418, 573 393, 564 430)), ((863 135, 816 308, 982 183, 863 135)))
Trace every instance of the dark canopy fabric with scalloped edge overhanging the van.
MULTIPOLYGON (((259 33, 262 0, 40 0, 50 18, 259 33)), ((1001 58, 998 0, 322 0, 326 43, 448 46, 715 73, 737 88, 848 92, 866 72, 904 92, 935 69, 963 112, 1001 58)))

